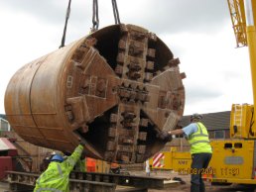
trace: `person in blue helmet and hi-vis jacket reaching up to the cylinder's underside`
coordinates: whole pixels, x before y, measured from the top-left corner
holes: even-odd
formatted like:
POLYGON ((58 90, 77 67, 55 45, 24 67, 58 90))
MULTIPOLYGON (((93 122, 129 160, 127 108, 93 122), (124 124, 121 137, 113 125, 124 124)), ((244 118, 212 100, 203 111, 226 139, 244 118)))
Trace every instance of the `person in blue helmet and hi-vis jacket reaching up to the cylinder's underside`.
POLYGON ((69 173, 81 157, 83 146, 80 143, 65 159, 61 154, 55 154, 47 170, 37 179, 34 192, 68 192, 69 173))

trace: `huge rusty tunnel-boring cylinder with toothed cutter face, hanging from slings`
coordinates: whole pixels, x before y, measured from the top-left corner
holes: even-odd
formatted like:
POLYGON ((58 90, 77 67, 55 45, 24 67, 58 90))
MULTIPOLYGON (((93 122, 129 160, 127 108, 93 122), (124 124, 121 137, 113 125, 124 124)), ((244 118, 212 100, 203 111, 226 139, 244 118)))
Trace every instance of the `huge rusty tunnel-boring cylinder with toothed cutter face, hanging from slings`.
POLYGON ((157 134, 183 116, 179 63, 146 29, 109 26, 19 69, 6 115, 29 143, 68 153, 81 138, 87 156, 143 162, 164 146, 157 134))

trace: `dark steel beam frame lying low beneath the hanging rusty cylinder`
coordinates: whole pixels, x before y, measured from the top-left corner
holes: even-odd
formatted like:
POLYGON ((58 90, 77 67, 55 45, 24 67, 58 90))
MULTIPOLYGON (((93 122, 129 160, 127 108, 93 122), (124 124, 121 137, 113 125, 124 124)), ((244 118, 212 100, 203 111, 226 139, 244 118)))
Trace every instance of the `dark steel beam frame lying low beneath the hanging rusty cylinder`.
MULTIPOLYGON (((7 174, 6 181, 9 183, 8 192, 33 191, 36 180, 40 176, 38 173, 17 171, 7 171, 7 174)), ((71 172, 69 176, 70 192, 147 192, 148 189, 161 190, 177 185, 179 185, 178 181, 162 177, 77 171, 71 172)))

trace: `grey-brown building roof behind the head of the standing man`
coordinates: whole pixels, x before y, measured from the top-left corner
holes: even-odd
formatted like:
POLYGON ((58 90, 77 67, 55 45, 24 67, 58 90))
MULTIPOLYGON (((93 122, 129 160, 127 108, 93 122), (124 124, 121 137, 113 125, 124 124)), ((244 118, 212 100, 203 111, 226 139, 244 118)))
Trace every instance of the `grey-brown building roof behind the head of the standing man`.
MULTIPOLYGON (((207 130, 227 130, 230 125, 230 111, 201 114, 201 123, 207 130)), ((179 126, 186 127, 191 123, 191 116, 184 116, 179 126)))

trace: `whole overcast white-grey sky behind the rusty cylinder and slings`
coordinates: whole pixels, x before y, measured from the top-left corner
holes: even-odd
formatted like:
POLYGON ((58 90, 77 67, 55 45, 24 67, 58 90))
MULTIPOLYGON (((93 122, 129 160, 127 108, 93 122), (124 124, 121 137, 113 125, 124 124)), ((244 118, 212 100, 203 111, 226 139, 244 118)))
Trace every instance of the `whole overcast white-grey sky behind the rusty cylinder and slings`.
MULTIPOLYGON (((59 48, 68 0, 0 1, 0 113, 12 75, 59 48)), ((114 24, 111 0, 98 0, 99 29, 114 24)), ((185 115, 252 104, 247 48, 235 48, 226 0, 117 0, 121 23, 156 33, 186 72, 185 115)), ((66 44, 87 35, 92 0, 72 0, 66 44)))

